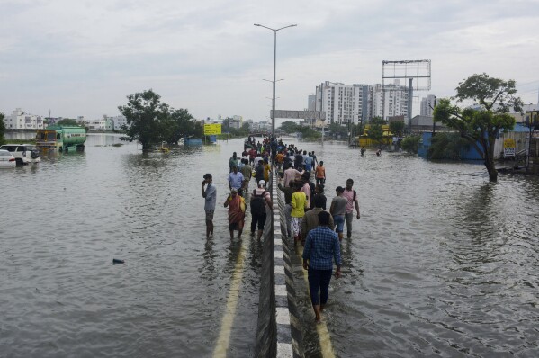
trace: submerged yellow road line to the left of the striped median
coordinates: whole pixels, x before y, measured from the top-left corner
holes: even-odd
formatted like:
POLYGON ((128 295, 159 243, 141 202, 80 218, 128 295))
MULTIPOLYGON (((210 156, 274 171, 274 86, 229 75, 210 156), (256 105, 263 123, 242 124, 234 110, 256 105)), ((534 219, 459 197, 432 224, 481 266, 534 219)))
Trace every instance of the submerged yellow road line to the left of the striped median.
POLYGON ((217 340, 217 345, 213 351, 214 357, 226 357, 227 351, 230 345, 230 332, 232 331, 232 324, 236 317, 236 308, 238 307, 239 286, 243 277, 243 263, 244 263, 244 251, 246 251, 246 242, 249 242, 249 238, 243 238, 241 246, 238 252, 238 261, 234 265, 234 273, 232 274, 232 280, 230 283, 229 298, 227 300, 225 315, 222 318, 220 325, 220 334, 217 340))

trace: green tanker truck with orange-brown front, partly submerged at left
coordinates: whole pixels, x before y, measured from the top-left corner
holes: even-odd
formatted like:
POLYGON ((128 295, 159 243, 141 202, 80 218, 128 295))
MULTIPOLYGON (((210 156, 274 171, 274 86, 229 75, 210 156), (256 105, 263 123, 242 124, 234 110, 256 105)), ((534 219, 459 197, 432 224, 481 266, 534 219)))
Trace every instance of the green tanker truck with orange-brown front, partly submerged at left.
POLYGON ((78 126, 52 125, 36 134, 36 147, 43 151, 85 150, 86 130, 78 126))

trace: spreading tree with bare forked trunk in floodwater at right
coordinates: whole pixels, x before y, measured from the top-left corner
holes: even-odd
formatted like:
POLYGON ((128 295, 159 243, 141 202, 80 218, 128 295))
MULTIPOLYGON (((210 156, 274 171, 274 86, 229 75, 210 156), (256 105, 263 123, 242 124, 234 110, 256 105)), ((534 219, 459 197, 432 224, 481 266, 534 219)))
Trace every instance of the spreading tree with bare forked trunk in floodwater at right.
POLYGON ((455 90, 457 94, 453 99, 457 103, 471 100, 481 107, 461 109, 448 99, 442 99, 435 107, 434 119, 457 130, 481 153, 490 182, 496 182, 494 143, 499 130, 512 130, 515 126, 515 119, 508 112, 522 111, 522 100, 515 95, 515 81, 476 74, 459 83, 455 90))

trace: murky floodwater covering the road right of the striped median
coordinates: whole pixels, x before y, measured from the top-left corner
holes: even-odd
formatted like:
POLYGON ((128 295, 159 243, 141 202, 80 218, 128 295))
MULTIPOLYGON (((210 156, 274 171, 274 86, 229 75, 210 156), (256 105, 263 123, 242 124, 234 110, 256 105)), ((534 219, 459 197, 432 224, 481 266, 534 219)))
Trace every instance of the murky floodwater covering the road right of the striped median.
MULTIPOLYGON (((328 201, 353 178, 361 210, 329 293, 337 356, 539 355, 539 178, 489 183, 477 164, 316 152, 328 201)), ((308 293, 296 291, 310 323, 308 293)), ((307 354, 319 356, 313 335, 307 354)))

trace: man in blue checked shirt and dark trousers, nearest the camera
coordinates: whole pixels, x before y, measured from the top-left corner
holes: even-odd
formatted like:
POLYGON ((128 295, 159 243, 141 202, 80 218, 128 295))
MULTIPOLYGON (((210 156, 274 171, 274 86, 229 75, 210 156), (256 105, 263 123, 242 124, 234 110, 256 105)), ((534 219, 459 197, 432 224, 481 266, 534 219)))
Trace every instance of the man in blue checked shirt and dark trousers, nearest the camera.
POLYGON ((333 260, 337 264, 335 277, 341 276, 341 250, 337 234, 328 228, 328 211, 319 212, 319 227, 307 234, 303 248, 303 268, 308 271, 310 301, 315 320, 321 320, 320 312, 328 302, 329 282, 333 272, 333 260), (319 295, 320 292, 320 295, 319 295))

